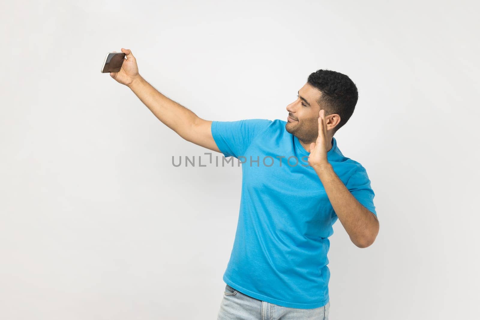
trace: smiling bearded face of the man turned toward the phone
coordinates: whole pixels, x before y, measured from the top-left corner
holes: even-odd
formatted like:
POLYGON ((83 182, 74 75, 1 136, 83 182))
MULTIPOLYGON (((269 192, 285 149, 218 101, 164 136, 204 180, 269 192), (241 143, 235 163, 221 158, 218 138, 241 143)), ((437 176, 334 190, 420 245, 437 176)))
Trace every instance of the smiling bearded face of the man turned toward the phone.
POLYGON ((320 106, 317 101, 321 95, 321 91, 305 83, 299 90, 297 100, 287 106, 285 129, 302 142, 314 142, 318 136, 320 106))

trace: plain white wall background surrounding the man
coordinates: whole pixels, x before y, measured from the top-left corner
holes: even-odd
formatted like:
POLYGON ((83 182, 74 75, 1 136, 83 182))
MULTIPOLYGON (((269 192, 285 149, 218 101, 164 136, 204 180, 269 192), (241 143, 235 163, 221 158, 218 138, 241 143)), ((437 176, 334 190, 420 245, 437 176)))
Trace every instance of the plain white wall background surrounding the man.
MULTIPOLYGON (((100 73, 140 74, 208 120, 282 119, 308 75, 359 88, 335 137, 380 233, 330 238, 330 319, 474 319, 474 1, 10 1, 2 5, 0 318, 216 319, 241 168, 174 167, 182 140, 100 73)), ((221 156, 221 154, 216 154, 221 156)), ((476 312, 475 312, 476 313, 476 312)))

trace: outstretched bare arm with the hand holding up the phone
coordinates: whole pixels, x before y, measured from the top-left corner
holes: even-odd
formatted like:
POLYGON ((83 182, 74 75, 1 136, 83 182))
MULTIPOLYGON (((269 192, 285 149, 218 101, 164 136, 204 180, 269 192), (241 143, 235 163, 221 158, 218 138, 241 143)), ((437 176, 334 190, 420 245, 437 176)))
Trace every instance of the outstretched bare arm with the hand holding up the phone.
POLYGON ((110 72, 117 82, 128 86, 158 120, 177 132, 183 139, 207 149, 220 152, 213 139, 212 121, 199 118, 191 110, 158 92, 139 74, 132 51, 122 48, 126 60, 119 72, 110 72))

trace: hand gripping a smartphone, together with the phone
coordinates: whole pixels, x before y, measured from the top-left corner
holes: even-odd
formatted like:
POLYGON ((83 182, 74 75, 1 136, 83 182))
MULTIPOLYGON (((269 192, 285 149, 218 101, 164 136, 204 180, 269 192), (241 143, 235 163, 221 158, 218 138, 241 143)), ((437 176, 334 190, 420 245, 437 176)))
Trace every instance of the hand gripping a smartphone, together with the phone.
POLYGON ((132 51, 124 48, 121 48, 121 51, 107 53, 101 71, 102 73, 110 72, 110 76, 118 83, 129 86, 134 79, 140 77, 140 74, 132 51))

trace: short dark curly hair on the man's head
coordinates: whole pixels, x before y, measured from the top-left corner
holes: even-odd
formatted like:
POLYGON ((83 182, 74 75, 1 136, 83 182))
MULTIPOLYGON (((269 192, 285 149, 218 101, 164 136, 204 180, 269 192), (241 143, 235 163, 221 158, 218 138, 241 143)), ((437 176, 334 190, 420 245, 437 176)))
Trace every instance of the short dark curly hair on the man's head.
POLYGON ((325 114, 336 113, 340 116, 340 122, 334 129, 335 133, 347 123, 355 110, 359 98, 357 86, 343 73, 322 69, 312 72, 307 83, 322 92, 317 103, 325 109, 325 114))

